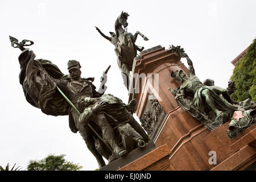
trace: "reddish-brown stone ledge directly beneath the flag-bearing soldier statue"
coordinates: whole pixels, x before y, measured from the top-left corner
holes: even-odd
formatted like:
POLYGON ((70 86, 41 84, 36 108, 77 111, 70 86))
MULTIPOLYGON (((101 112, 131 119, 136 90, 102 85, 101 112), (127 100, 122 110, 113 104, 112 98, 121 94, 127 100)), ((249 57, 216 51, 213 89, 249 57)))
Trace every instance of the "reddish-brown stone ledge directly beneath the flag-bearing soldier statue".
POLYGON ((171 150, 164 144, 141 158, 123 166, 118 171, 169 171, 171 150))

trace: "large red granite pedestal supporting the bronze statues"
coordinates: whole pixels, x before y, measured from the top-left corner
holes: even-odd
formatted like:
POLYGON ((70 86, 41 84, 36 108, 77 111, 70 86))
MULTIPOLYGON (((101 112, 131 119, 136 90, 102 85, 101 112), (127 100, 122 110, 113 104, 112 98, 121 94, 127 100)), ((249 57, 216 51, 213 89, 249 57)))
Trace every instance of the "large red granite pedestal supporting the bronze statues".
MULTIPOLYGON (((163 159, 163 163, 145 162, 150 159, 149 156, 152 153, 122 169, 243 170, 253 164, 256 160, 256 125, 250 126, 233 140, 230 140, 226 134, 229 122, 210 133, 203 124, 177 105, 168 90, 169 87, 175 89, 179 86, 170 76, 170 73, 177 69, 182 69, 188 75, 188 69, 180 61, 180 57, 172 53, 170 49, 160 46, 142 52, 140 57, 134 59, 133 73, 146 75, 151 73, 152 77, 157 73, 159 77, 158 82, 149 81, 150 76, 147 76, 144 81, 134 80, 134 85, 139 86, 139 93, 135 94, 137 98, 135 113, 138 118, 142 118, 149 93, 154 94, 166 116, 161 123, 158 123, 155 137, 151 140, 156 147, 166 146, 171 151, 164 155, 159 153, 159 158, 161 158, 159 160, 163 159), (216 164, 209 163, 210 151, 216 152, 216 164), (141 166, 142 161, 144 166, 141 166)), ((154 158, 158 158, 157 153, 155 152, 154 158)))

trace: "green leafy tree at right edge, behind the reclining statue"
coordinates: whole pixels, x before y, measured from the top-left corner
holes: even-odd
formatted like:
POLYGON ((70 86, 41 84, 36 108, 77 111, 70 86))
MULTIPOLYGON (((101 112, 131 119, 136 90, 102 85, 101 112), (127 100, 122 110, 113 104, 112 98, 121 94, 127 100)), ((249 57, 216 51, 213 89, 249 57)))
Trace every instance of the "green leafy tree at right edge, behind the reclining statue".
POLYGON ((236 91, 231 94, 232 100, 241 102, 251 98, 256 101, 256 39, 237 63, 231 80, 236 81, 236 91))

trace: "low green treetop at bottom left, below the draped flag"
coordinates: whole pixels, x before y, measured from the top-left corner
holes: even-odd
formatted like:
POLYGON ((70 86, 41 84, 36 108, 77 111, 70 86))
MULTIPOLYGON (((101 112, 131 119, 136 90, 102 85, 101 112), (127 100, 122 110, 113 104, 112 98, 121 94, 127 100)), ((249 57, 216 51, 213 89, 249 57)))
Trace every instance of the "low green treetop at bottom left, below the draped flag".
POLYGON ((65 155, 48 155, 42 160, 30 160, 28 171, 77 171, 82 168, 79 164, 67 162, 65 155))

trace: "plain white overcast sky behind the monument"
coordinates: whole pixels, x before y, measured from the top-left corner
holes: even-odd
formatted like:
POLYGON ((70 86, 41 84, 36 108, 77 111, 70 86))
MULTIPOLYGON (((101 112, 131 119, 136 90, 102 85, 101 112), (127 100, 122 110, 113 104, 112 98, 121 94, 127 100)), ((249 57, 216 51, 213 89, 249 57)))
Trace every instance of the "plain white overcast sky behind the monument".
MULTIPOLYGON (((169 44, 185 49, 201 81, 212 78, 226 88, 233 72, 230 63, 249 46, 256 33, 256 1, 0 1, 0 165, 16 163, 26 169, 31 159, 65 154, 84 170, 98 168, 79 133, 69 130, 68 116, 53 117, 28 104, 19 84, 19 49, 9 35, 35 42, 36 59, 48 59, 68 74, 67 61, 76 59, 82 77, 100 85, 108 73, 108 89, 127 102, 116 63, 114 46, 94 26, 109 35, 122 10, 129 13, 128 31, 137 30, 138 46, 145 49, 169 44)), ((167 78, 168 79, 168 78, 167 78)))

